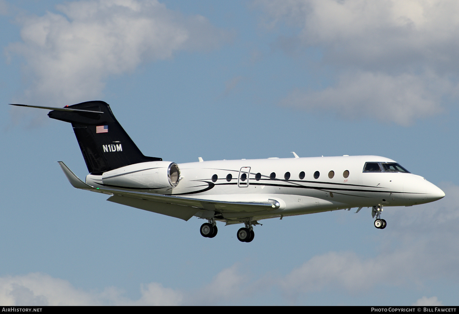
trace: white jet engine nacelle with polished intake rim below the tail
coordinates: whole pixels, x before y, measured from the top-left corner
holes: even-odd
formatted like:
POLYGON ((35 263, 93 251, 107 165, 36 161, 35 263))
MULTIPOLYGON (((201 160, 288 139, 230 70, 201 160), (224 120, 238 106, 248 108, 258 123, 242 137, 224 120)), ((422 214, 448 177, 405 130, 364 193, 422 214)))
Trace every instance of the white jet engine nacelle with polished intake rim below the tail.
POLYGON ((120 188, 169 190, 179 184, 179 179, 179 166, 166 161, 134 163, 102 174, 104 185, 120 188))

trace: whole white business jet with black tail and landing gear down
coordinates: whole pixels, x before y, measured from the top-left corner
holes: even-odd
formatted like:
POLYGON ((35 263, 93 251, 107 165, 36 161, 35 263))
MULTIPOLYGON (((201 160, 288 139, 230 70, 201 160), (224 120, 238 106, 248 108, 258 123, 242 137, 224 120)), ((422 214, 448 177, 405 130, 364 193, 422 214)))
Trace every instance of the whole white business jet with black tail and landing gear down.
POLYGON ((253 240, 258 220, 372 208, 375 227, 386 228, 383 206, 412 206, 441 199, 442 190, 380 156, 218 160, 176 164, 144 156, 104 101, 51 109, 72 123, 89 173, 86 182, 59 162, 77 189, 110 195, 107 201, 184 220, 207 219, 201 235, 217 235, 217 221, 245 224, 242 242, 253 240))

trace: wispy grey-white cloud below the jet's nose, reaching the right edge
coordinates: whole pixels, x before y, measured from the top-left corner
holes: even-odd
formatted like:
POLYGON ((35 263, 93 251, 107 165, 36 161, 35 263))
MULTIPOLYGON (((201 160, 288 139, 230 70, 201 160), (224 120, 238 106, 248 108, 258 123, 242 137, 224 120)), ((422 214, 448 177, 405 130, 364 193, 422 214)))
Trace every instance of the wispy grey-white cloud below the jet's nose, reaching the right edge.
MULTIPOLYGON (((384 241, 384 239, 380 239, 384 241)), ((439 268, 456 265, 452 253, 441 250, 443 259, 430 250, 431 243, 412 240, 398 245, 390 252, 381 250, 375 258, 362 258, 354 252, 328 252, 314 256, 279 279, 284 296, 291 302, 313 292, 340 291, 348 295, 361 295, 377 286, 416 286, 425 280, 449 278, 452 274, 439 268)), ((457 275, 457 271, 453 271, 457 275)), ((457 280, 456 280, 457 281, 457 280)))

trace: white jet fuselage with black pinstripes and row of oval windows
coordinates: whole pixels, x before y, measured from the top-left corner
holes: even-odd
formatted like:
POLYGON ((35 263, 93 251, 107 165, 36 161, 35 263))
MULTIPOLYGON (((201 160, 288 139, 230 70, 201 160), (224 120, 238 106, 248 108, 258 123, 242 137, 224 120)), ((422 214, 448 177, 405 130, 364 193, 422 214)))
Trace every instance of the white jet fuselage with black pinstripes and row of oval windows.
MULTIPOLYGON (((279 208, 273 210, 218 210, 224 219, 229 220, 263 219, 352 207, 412 206, 444 196, 442 190, 419 175, 384 171, 383 167, 377 172, 364 171, 366 163, 381 165, 395 161, 380 156, 342 156, 181 163, 178 164, 179 183, 173 188, 162 189, 148 188, 148 177, 157 174, 151 173, 156 171, 151 170, 156 169, 152 166, 154 162, 147 162, 127 166, 130 167, 127 173, 132 175, 135 172, 136 178, 143 177, 144 183, 139 182, 137 188, 133 185, 112 186, 209 201, 266 202, 272 199, 280 203, 279 208)), ((118 175, 118 178, 122 176, 118 175)), ((101 178, 88 175, 86 183, 103 187, 101 178)), ((196 216, 202 213, 198 212, 196 216)))

